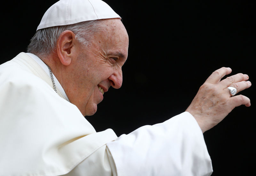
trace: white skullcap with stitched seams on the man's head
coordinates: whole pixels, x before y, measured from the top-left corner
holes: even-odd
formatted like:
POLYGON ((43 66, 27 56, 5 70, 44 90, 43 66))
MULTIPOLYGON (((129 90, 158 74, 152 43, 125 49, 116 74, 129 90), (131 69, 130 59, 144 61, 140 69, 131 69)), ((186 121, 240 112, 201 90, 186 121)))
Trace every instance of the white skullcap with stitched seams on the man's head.
POLYGON ((45 13, 36 31, 95 19, 121 18, 101 0, 60 0, 45 13))

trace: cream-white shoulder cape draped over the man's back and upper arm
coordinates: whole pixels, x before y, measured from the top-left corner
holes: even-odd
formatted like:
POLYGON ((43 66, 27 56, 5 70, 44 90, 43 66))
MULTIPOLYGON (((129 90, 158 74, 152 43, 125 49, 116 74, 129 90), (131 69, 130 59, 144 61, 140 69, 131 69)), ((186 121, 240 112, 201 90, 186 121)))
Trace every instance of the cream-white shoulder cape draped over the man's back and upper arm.
POLYGON ((0 175, 62 175, 116 139, 13 61, 0 65, 0 130, 0 175))

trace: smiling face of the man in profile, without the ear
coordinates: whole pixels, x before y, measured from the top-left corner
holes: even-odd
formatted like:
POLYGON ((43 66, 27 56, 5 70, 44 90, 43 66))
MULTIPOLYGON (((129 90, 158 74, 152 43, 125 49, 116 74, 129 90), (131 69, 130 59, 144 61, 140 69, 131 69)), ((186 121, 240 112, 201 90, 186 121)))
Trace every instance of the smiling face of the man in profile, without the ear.
POLYGON ((128 55, 128 34, 120 19, 103 20, 106 27, 93 36, 92 44, 80 44, 72 63, 72 89, 65 92, 81 113, 93 115, 110 86, 122 85, 122 66, 128 55))

